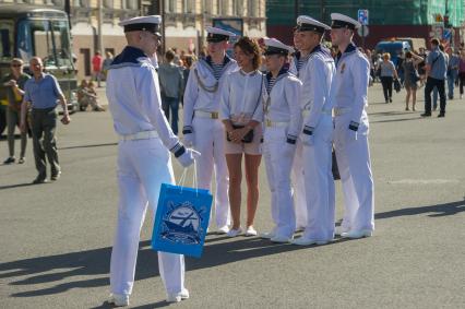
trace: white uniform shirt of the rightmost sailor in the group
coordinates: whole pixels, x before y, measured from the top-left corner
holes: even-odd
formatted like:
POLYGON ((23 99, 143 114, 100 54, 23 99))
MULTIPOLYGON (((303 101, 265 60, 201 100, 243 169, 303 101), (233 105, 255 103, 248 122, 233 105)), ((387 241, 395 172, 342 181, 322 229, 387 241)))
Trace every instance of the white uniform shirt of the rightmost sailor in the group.
POLYGON ((331 84, 330 100, 335 108, 349 110, 350 121, 360 123, 368 106, 370 63, 354 44, 336 59, 336 74, 331 84))

